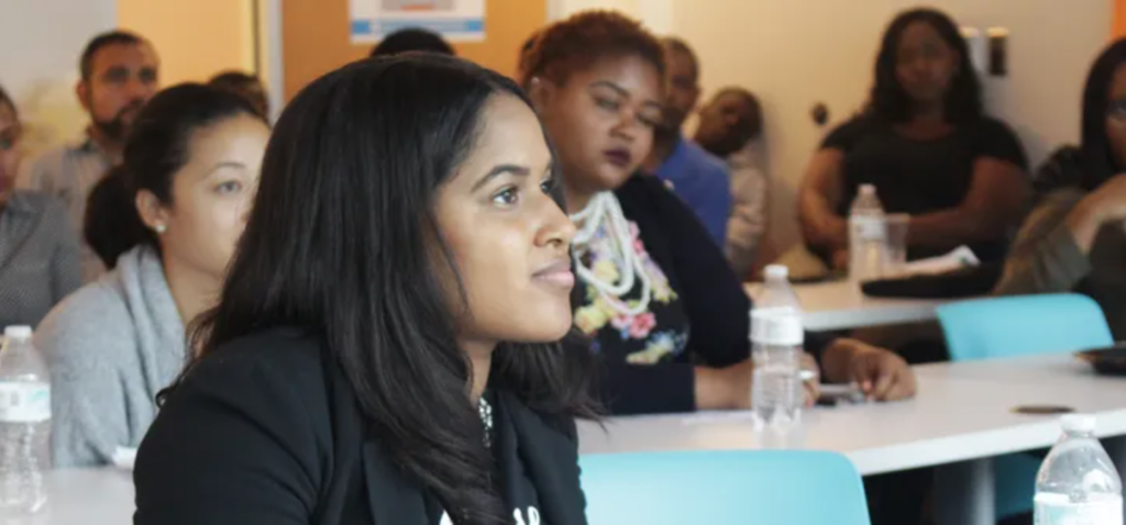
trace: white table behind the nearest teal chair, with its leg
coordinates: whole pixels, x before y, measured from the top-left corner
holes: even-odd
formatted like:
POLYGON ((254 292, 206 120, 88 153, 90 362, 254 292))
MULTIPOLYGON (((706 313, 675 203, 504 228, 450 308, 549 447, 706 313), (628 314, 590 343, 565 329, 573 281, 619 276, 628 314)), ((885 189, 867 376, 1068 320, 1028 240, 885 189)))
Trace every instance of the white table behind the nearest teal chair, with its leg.
MULTIPOLYGON (((919 397, 903 402, 817 408, 786 446, 844 454, 861 474, 950 465, 940 487, 947 522, 992 523, 992 456, 1051 446, 1056 416, 1018 406, 1063 405, 1098 416, 1098 435, 1126 435, 1126 380, 1094 375, 1070 355, 918 366, 919 397), (984 461, 978 461, 984 460, 984 461), (968 462, 968 463, 967 463, 968 462)), ((580 424, 583 454, 753 450, 771 444, 747 413, 613 418, 580 424)), ((774 444, 777 445, 777 444, 774 444)), ((1121 469, 1124 465, 1119 465, 1121 469)), ((941 478, 940 478, 941 479, 941 478)), ((937 506, 938 507, 938 506, 937 506)))

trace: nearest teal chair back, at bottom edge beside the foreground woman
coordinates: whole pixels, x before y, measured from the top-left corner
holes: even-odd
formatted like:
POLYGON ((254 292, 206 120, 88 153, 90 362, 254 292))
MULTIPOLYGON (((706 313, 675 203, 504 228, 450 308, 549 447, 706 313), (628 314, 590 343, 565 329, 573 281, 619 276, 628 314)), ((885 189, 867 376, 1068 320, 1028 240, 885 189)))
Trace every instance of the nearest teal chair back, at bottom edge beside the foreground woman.
POLYGON ((593 454, 579 459, 591 525, 869 525, 860 476, 814 451, 593 454))

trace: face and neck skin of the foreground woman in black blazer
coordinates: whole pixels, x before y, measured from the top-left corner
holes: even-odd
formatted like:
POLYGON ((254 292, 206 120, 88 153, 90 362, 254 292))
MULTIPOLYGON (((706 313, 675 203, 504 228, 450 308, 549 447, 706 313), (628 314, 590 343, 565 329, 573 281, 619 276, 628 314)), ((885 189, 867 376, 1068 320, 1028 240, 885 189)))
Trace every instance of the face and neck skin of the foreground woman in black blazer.
MULTIPOLYGON (((473 402, 500 342, 566 334, 574 286, 568 248, 575 229, 546 191, 552 155, 536 115, 515 97, 497 96, 482 118, 475 147, 435 201, 468 306, 457 315, 458 345, 473 363, 473 402)), ((448 302, 462 305, 458 290, 447 289, 448 302)))

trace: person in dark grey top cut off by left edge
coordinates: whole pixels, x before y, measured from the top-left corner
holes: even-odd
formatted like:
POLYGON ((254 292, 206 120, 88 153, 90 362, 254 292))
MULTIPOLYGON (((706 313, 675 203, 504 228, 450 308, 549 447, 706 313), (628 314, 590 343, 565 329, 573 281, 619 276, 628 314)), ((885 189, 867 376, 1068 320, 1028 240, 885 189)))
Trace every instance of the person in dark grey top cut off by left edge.
POLYGON ((82 284, 78 234, 62 202, 15 190, 23 127, 0 88, 0 331, 36 326, 82 284))

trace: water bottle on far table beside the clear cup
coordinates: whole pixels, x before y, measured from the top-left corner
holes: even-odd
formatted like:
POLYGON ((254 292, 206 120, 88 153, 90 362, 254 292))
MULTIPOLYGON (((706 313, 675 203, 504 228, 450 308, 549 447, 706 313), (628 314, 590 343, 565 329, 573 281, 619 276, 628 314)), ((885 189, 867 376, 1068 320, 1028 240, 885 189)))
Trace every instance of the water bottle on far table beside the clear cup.
POLYGON ((887 221, 876 187, 860 184, 848 216, 849 279, 859 282, 881 278, 886 239, 887 221))

